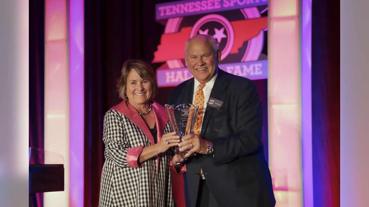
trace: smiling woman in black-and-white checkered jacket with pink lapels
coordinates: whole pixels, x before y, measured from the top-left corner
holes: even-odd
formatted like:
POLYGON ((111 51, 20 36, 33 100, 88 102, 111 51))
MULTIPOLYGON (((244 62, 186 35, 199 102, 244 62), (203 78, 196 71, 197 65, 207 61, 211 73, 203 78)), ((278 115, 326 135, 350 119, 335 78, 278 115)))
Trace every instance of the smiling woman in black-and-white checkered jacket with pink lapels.
POLYGON ((165 108, 150 98, 158 84, 149 64, 127 60, 118 79, 124 99, 104 116, 105 163, 99 206, 175 206, 169 169, 179 136, 170 132, 165 108))

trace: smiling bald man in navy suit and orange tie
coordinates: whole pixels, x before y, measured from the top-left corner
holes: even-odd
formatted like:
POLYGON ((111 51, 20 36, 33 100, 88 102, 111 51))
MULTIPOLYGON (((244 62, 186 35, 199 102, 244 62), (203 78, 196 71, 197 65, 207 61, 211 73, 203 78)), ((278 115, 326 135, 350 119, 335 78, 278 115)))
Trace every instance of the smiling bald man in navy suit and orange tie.
POLYGON ((186 161, 173 159, 177 168, 183 164, 186 168, 186 206, 275 206, 255 84, 218 68, 220 60, 221 51, 212 36, 189 39, 185 62, 194 78, 169 95, 168 104, 204 98, 198 133, 185 136, 178 145, 180 151, 192 147, 184 155, 186 161))

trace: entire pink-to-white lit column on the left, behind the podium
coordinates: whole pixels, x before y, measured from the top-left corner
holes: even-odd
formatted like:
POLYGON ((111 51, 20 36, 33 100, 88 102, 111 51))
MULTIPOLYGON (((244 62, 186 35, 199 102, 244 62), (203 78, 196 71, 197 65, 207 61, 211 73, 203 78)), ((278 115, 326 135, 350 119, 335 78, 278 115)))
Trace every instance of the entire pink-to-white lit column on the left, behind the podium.
POLYGON ((44 148, 64 158, 64 191, 44 193, 44 206, 69 206, 69 91, 66 0, 45 1, 44 148))

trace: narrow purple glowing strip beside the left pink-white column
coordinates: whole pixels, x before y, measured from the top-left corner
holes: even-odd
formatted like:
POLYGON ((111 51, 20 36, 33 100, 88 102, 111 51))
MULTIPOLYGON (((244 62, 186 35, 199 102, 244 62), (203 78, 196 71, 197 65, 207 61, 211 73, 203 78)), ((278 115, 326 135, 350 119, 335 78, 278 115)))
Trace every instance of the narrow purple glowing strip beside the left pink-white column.
POLYGON ((70 203, 83 206, 84 175, 84 19, 83 0, 69 1, 70 203))

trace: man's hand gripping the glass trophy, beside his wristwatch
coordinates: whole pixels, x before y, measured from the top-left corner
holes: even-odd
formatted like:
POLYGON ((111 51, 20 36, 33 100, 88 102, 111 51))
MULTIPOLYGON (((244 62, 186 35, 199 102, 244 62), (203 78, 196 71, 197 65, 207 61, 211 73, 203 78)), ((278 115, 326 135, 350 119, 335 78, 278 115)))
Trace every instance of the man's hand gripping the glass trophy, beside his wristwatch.
POLYGON ((179 151, 184 151, 192 147, 192 149, 184 155, 184 157, 190 157, 195 152, 207 154, 208 141, 197 134, 187 134, 182 138, 182 142, 179 143, 178 146, 180 147, 179 151))

